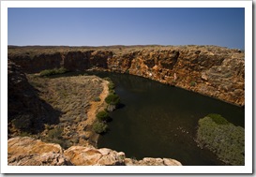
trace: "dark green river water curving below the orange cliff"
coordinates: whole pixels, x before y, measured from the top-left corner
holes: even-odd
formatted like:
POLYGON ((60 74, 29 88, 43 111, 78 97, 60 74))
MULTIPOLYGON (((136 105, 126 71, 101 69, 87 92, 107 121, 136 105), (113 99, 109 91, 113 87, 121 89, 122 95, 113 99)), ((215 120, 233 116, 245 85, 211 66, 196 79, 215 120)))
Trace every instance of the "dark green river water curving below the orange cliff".
POLYGON ((136 159, 169 157, 183 165, 224 165, 194 141, 198 120, 218 113, 244 127, 244 108, 137 76, 97 75, 112 79, 124 104, 110 114, 110 131, 100 136, 98 148, 122 151, 136 159))

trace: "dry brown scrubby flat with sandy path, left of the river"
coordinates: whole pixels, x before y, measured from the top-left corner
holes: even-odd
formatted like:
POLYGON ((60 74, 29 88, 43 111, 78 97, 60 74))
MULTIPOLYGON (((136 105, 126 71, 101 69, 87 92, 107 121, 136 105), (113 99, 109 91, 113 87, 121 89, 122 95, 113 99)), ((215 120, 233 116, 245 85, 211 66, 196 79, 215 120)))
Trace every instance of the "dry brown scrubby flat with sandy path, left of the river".
MULTIPOLYGON (((45 131, 39 137, 51 141, 49 132, 56 127, 63 129, 58 139, 64 141, 65 146, 96 144, 96 135, 92 126, 96 113, 104 109, 104 99, 108 96, 108 81, 96 76, 76 76, 60 78, 40 78, 28 75, 29 82, 38 89, 38 95, 53 109, 61 111, 58 125, 45 125, 45 131), (97 99, 96 99, 97 98, 97 99)), ((53 137, 53 135, 51 135, 53 137)))

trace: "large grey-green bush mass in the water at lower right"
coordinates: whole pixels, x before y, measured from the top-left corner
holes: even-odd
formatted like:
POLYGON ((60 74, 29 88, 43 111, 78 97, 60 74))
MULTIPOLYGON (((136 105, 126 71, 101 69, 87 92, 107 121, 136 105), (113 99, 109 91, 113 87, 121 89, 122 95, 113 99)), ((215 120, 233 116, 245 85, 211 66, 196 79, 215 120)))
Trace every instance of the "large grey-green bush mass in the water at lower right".
POLYGON ((219 114, 209 114, 200 119, 197 142, 207 148, 223 162, 245 165, 245 129, 229 123, 219 114))

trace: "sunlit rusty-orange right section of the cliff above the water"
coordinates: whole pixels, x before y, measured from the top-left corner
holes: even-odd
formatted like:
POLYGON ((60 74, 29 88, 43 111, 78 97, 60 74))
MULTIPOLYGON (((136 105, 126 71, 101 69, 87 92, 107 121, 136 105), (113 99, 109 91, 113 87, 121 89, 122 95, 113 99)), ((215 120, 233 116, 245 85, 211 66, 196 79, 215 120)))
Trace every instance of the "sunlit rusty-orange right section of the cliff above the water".
POLYGON ((194 48, 143 50, 108 62, 113 71, 128 70, 133 75, 244 106, 244 53, 218 47, 194 48))

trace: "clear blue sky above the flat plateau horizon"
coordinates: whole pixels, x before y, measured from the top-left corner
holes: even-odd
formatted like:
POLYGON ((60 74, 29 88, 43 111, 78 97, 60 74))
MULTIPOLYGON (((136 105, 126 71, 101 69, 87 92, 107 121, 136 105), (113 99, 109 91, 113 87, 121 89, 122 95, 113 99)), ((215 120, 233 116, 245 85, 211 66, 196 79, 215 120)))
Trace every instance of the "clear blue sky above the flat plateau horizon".
POLYGON ((8 8, 8 45, 245 48, 245 9, 8 8))

